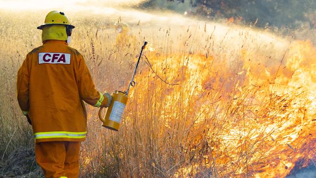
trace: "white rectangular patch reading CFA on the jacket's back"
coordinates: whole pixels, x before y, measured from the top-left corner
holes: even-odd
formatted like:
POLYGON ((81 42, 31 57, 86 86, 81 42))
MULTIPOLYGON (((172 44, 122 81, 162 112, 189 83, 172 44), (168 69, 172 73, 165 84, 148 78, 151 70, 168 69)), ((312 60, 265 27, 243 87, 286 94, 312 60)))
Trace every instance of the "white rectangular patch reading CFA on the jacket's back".
POLYGON ((70 64, 69 53, 38 53, 38 64, 70 64))

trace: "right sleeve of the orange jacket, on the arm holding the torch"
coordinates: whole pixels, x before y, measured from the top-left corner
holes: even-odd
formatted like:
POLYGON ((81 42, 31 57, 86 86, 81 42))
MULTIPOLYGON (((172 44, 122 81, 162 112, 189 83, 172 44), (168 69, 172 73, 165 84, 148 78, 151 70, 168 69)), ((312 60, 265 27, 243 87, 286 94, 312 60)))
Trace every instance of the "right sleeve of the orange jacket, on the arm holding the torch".
POLYGON ((79 69, 77 73, 77 85, 80 98, 89 105, 100 107, 107 104, 107 98, 95 89, 85 59, 79 55, 79 69))

